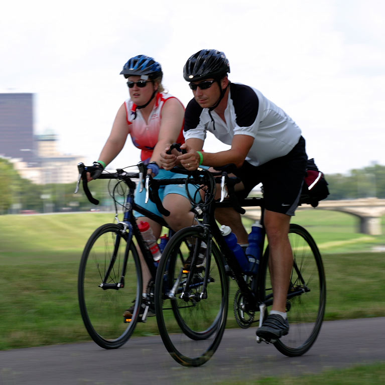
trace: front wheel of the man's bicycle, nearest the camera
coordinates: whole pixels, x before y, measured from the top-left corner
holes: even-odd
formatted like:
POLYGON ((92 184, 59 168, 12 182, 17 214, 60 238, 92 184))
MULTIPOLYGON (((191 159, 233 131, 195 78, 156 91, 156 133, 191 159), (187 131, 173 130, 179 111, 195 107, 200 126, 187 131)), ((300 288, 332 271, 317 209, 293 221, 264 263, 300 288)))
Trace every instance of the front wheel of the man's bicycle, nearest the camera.
POLYGON ((209 258, 207 298, 199 297, 207 261, 205 268, 190 268, 196 272, 189 288, 190 297, 181 298, 188 274, 181 272, 191 252, 186 244, 202 240, 208 242, 194 226, 175 233, 163 251, 155 283, 155 312, 160 335, 168 352, 183 366, 200 366, 207 362, 219 346, 226 326, 228 278, 223 257, 214 242, 209 258), (175 285, 179 276, 180 283, 175 285), (170 298, 173 287, 176 295, 170 298))

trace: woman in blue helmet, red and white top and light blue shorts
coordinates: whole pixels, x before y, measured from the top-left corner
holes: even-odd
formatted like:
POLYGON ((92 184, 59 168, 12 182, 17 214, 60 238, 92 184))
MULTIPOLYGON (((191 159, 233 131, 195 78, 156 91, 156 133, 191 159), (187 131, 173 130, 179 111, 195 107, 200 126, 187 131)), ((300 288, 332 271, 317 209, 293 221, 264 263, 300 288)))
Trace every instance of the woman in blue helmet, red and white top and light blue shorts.
MULTIPOLYGON (((118 109, 111 133, 96 163, 105 168, 120 153, 130 135, 134 145, 142 150, 141 159, 148 165, 148 173, 154 178, 182 177, 159 166, 160 154, 166 147, 175 142, 184 143, 184 107, 177 98, 164 92, 161 65, 151 57, 138 55, 124 64, 120 74, 127 79, 130 98, 118 109)), ((91 179, 89 176, 88 180, 91 179)), ((162 216, 155 203, 150 200, 145 203, 145 190, 139 190, 140 186, 135 194, 135 202, 162 216)), ((165 186, 159 189, 159 196, 163 206, 170 211, 170 216, 164 219, 174 231, 193 224, 194 214, 190 212, 191 203, 184 186, 165 186)), ((162 226, 159 223, 138 212, 135 212, 135 216, 149 222, 155 237, 160 236, 162 226)), ((142 270, 143 295, 146 296, 150 272, 143 260, 142 270)), ((127 312, 131 313, 132 309, 127 310, 124 316, 129 316, 127 312)))

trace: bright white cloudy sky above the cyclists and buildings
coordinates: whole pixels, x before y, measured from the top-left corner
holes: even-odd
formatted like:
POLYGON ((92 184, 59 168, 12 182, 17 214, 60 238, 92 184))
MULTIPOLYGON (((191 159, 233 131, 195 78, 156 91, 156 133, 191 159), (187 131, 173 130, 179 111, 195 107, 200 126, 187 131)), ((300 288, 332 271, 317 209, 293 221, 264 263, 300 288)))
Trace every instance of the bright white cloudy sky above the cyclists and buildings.
MULTIPOLYGON (((383 0, 110 0, 6 2, 0 13, 0 92, 32 92, 36 134, 59 150, 98 159, 129 97, 124 63, 162 65, 163 85, 184 105, 183 66, 223 51, 229 79, 259 89, 300 126, 309 158, 327 174, 385 165, 383 0)), ((204 150, 228 148, 214 137, 204 150)), ((130 138, 111 167, 136 164, 130 138)))

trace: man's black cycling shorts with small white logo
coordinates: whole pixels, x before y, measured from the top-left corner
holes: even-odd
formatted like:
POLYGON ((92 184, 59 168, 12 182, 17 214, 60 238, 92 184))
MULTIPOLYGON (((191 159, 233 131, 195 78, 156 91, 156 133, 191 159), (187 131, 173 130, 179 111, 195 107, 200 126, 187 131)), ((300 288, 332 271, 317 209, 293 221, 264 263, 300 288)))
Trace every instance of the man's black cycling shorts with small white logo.
POLYGON ((273 159, 261 166, 247 161, 234 174, 242 181, 244 190, 237 191, 238 199, 262 183, 265 207, 268 210, 294 215, 300 199, 306 173, 307 155, 305 139, 300 138, 289 154, 273 159))

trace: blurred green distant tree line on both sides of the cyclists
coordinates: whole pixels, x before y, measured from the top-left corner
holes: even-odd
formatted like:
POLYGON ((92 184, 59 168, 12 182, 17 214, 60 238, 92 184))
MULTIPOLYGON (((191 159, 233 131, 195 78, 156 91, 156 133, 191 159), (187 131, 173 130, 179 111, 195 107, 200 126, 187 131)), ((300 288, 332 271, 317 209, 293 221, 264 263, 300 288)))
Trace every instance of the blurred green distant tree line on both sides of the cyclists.
MULTIPOLYGON (((74 166, 76 167, 76 165, 74 166)), ((328 199, 385 198, 385 166, 373 165, 348 174, 327 174, 330 195, 328 199)), ((23 210, 37 212, 89 211, 111 209, 108 181, 91 182, 92 194, 100 200, 95 206, 88 202, 82 188, 74 194, 75 183, 34 184, 23 179, 11 162, 0 158, 0 214, 23 210)))

